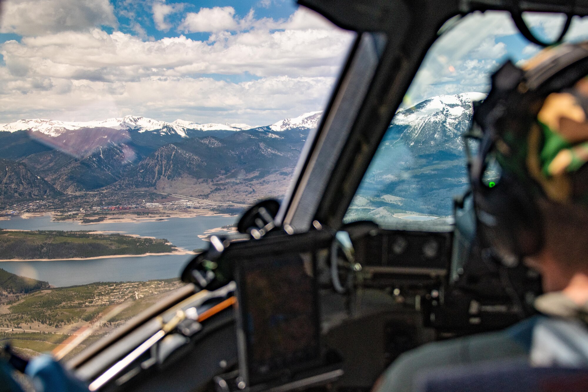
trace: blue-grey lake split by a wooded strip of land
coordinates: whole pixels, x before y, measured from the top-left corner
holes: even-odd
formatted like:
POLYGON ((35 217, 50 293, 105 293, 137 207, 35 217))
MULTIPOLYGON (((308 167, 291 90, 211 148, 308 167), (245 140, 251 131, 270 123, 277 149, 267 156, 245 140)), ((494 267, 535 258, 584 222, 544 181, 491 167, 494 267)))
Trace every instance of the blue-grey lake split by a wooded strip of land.
MULTIPOLYGON (((81 225, 79 222, 52 222, 51 216, 22 219, 13 217, 0 221, 10 230, 89 230, 116 231, 145 237, 166 238, 173 245, 187 250, 208 247, 198 238, 206 230, 235 224, 238 217, 223 215, 192 218, 166 218, 155 222, 100 222, 81 225)), ((112 257, 93 260, 2 261, 0 268, 29 278, 48 281, 63 287, 93 282, 145 281, 179 277, 193 255, 161 255, 143 257, 112 257)))

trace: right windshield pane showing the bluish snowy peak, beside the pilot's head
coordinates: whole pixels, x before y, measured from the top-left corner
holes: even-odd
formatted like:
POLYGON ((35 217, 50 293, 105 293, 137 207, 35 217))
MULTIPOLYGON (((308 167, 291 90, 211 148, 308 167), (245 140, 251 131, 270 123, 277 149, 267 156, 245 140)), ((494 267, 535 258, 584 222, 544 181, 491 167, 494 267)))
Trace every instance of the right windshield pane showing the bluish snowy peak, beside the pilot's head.
MULTIPOLYGON (((545 41, 564 24, 556 14, 523 15, 545 41)), ((567 41, 586 39, 586 19, 574 17, 567 41)), ((462 135, 472 102, 490 89, 490 75, 507 59, 520 64, 540 46, 517 30, 508 12, 487 11, 447 21, 396 112, 353 198, 345 222, 445 230, 453 197, 467 190, 462 135)))

